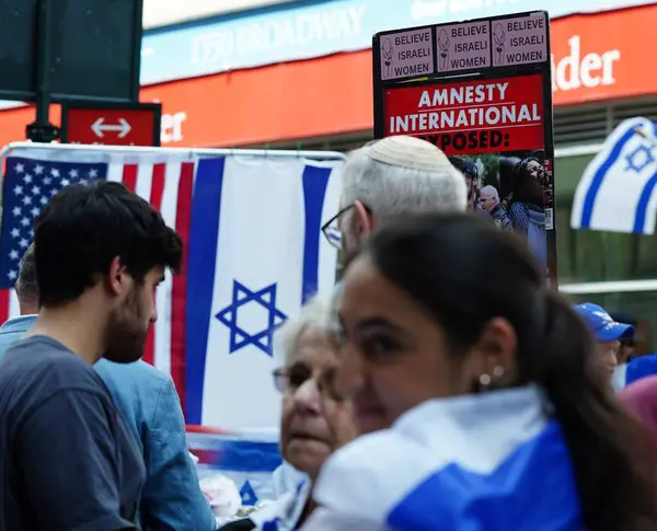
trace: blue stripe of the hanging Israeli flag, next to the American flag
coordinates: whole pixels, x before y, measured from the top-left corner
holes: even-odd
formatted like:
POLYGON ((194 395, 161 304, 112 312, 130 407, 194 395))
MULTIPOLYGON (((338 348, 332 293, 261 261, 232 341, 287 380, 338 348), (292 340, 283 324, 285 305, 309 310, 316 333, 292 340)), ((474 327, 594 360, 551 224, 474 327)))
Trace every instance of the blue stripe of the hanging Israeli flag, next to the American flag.
POLYGON ((201 424, 203 418, 203 390, 212 314, 224 163, 224 158, 201 160, 194 184, 187 255, 187 424, 201 424))

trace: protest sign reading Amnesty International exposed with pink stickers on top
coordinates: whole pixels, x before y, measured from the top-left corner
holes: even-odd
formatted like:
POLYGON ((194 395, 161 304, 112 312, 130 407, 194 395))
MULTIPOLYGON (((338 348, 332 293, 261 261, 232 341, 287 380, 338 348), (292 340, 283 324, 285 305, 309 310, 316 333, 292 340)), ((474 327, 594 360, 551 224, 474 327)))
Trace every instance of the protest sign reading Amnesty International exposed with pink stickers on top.
POLYGON ((470 208, 523 235, 556 285, 548 13, 381 32, 373 67, 376 138, 416 136, 450 155, 470 208))

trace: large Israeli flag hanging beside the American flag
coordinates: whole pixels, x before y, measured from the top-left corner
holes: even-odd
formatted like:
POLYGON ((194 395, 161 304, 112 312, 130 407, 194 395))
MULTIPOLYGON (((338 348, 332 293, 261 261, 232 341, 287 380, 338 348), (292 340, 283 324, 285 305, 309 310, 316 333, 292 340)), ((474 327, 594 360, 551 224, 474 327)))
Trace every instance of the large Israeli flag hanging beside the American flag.
POLYGON ((187 424, 277 428, 273 335, 315 292, 337 252, 321 235, 338 209, 342 160, 231 155, 198 162, 187 267, 187 424))

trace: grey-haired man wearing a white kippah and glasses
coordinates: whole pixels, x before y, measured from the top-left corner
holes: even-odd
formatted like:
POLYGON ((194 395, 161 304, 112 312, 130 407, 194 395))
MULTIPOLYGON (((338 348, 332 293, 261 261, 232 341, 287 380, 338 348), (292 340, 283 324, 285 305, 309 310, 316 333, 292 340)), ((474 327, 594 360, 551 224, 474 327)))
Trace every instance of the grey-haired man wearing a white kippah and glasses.
POLYGON ((351 253, 388 218, 466 207, 465 178, 440 149, 415 137, 387 137, 349 153, 341 210, 322 232, 351 253))

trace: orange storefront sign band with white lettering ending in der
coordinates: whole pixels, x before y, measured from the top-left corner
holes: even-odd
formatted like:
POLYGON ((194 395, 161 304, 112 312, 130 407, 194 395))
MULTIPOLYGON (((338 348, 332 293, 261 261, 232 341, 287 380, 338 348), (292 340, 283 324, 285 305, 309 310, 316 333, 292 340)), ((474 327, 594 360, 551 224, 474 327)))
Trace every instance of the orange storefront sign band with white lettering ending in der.
MULTIPOLYGON (((657 94, 657 73, 645 68, 646 35, 656 25, 657 4, 552 21, 554 105, 657 94)), ((454 64, 451 54, 457 47, 452 35, 449 54, 450 68, 457 69, 454 74, 468 67, 476 68, 480 61, 473 57, 489 60, 483 54, 462 55, 457 58, 470 62, 454 64)), ((480 33, 472 42, 481 45, 482 41, 486 42, 480 33)), ((440 37, 436 37, 435 60, 441 72, 439 46, 440 37)), ((364 50, 181 80, 143 88, 141 101, 162 103, 163 146, 262 146, 369 131, 371 60, 372 54, 364 50), (342 82, 335 83, 335 79, 342 82), (266 97, 269 93, 276 94, 276 105, 266 97), (221 127, 208 117, 220 117, 221 127)), ((56 108, 50 116, 53 124, 59 123, 56 108)), ((0 112, 0 145, 24 139, 25 126, 33 120, 33 107, 0 112)))

